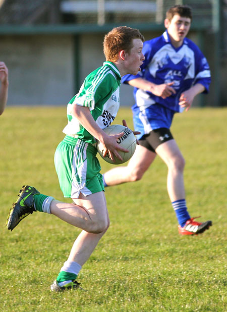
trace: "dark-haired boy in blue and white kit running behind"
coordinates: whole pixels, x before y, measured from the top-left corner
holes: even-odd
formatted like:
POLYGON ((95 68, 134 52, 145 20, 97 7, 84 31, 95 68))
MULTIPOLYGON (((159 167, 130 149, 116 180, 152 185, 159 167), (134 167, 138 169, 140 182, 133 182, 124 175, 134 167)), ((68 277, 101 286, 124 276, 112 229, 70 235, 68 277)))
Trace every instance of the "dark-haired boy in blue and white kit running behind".
POLYGON ((194 97, 209 89, 209 65, 198 46, 186 38, 191 20, 188 6, 170 8, 164 20, 166 31, 144 42, 141 72, 122 78, 123 83, 134 86, 132 110, 135 130, 141 132, 140 145, 127 167, 103 175, 105 186, 140 180, 159 155, 168 167, 167 191, 182 235, 200 234, 212 225, 211 221, 196 222, 187 211, 185 160, 169 130, 175 113, 188 111, 194 97))

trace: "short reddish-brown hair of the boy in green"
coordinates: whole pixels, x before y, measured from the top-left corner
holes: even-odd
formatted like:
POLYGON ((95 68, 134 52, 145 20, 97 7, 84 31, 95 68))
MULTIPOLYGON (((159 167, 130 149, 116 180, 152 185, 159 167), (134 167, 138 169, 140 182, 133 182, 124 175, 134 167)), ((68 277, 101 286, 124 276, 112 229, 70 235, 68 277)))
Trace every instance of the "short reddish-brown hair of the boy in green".
POLYGON ((116 62, 121 50, 129 53, 133 47, 133 39, 141 39, 144 42, 144 37, 138 29, 120 26, 110 30, 103 40, 103 52, 106 61, 116 62))

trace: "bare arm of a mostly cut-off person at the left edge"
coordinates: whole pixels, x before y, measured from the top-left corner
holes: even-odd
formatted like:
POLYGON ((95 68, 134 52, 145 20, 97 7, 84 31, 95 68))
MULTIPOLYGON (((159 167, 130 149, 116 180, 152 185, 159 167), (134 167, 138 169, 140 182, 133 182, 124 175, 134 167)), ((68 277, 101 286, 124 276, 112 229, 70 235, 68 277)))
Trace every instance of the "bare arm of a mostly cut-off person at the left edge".
POLYGON ((4 62, 0 62, 0 81, 1 81, 1 90, 0 90, 0 115, 3 114, 7 98, 8 98, 8 68, 4 62))

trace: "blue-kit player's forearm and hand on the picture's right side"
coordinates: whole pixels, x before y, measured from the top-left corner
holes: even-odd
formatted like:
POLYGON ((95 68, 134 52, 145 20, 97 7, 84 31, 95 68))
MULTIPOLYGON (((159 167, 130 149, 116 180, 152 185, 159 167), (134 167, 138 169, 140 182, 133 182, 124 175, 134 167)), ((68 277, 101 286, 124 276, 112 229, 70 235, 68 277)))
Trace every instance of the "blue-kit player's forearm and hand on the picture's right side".
POLYGON ((196 83, 190 89, 182 92, 179 98, 180 107, 186 108, 186 112, 187 112, 192 106, 192 102, 195 96, 199 93, 202 93, 203 91, 205 91, 204 85, 202 85, 201 83, 196 83))

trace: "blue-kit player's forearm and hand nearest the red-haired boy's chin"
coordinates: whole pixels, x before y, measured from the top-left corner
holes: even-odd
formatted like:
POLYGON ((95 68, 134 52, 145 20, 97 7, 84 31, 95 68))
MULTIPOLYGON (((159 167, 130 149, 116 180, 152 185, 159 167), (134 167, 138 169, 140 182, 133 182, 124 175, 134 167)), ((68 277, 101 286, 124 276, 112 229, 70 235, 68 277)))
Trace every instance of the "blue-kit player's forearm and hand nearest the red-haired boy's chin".
POLYGON ((143 78, 135 78, 129 80, 128 84, 138 89, 149 91, 154 95, 160 96, 162 98, 166 98, 172 94, 176 94, 176 90, 172 87, 174 82, 155 84, 143 78))

